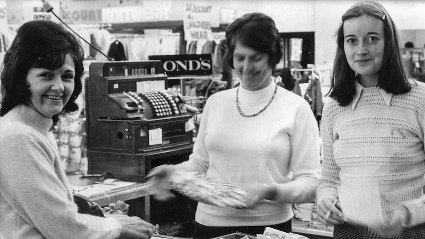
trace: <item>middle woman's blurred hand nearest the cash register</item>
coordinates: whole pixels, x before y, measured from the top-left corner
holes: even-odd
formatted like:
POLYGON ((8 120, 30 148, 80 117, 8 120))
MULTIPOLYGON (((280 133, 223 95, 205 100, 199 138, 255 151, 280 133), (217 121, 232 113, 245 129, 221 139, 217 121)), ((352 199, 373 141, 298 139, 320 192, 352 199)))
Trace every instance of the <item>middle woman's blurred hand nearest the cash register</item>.
POLYGON ((175 198, 170 192, 171 186, 168 182, 175 171, 175 165, 161 165, 153 168, 145 177, 151 183, 152 196, 156 200, 167 201, 175 198))

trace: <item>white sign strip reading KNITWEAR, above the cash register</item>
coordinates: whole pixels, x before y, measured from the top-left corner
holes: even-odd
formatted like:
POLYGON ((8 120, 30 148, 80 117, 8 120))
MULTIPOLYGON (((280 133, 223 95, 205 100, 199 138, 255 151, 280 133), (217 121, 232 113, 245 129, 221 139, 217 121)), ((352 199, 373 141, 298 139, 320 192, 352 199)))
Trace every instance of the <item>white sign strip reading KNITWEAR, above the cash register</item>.
POLYGON ((166 5, 102 8, 102 23, 165 21, 170 18, 166 5))

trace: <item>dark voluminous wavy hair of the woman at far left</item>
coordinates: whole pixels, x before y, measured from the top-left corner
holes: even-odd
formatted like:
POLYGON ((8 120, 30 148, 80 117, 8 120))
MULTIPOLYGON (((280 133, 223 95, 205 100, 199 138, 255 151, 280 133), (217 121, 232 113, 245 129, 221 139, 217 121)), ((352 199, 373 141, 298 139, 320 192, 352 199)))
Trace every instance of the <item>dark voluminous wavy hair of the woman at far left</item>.
MULTIPOLYGON (((30 98, 30 85, 26 81, 30 68, 60 68, 67 54, 71 55, 75 64, 75 85, 70 100, 60 114, 78 110, 75 100, 82 90, 84 50, 75 35, 57 23, 46 20, 24 23, 4 55, 0 116, 30 98)), ((57 124, 59 114, 52 119, 57 124)))

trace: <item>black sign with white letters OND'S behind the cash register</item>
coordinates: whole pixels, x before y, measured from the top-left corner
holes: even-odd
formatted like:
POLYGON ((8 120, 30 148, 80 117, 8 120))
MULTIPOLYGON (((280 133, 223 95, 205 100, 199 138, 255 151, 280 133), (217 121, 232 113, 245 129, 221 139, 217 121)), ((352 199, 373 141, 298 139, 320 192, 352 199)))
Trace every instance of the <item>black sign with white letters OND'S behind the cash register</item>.
POLYGON ((149 56, 149 60, 160 60, 168 76, 213 74, 211 54, 158 55, 149 56))

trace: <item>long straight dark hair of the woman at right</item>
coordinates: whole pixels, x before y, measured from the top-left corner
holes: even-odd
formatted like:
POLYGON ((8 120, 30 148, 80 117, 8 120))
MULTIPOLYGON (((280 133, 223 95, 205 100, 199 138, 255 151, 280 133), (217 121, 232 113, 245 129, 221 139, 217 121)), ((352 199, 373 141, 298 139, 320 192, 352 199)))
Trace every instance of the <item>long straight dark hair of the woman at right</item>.
POLYGON ((355 72, 348 65, 344 52, 344 21, 362 15, 376 17, 384 22, 384 62, 378 72, 378 87, 394 95, 409 92, 411 86, 408 82, 409 73, 404 67, 400 55, 398 32, 390 14, 379 3, 365 1, 354 4, 342 16, 342 22, 337 30, 337 50, 332 71, 331 88, 328 95, 335 99, 339 105, 350 104, 355 95, 355 72))

